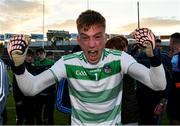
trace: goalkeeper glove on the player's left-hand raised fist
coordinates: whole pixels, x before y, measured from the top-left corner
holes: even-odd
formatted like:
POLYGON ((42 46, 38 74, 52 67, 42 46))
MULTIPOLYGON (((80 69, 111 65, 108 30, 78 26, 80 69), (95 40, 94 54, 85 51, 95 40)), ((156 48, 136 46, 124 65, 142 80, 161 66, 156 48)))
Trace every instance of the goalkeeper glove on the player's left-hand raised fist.
POLYGON ((14 35, 10 38, 7 50, 16 67, 24 63, 30 41, 29 35, 14 35))

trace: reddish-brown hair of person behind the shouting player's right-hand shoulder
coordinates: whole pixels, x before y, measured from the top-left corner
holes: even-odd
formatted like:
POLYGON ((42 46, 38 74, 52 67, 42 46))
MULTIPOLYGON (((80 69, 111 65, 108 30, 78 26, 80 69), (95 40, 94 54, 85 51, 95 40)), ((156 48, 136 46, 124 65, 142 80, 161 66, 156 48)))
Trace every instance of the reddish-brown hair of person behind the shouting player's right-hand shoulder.
POLYGON ((110 49, 124 50, 127 46, 128 40, 121 35, 115 36, 106 42, 106 48, 110 49))

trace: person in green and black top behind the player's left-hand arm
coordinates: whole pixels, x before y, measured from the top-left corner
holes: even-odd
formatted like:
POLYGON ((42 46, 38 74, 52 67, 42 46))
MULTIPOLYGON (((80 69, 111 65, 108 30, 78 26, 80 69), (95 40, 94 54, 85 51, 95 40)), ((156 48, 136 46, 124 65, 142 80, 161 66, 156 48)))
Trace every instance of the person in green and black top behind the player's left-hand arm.
MULTIPOLYGON (((34 66, 36 69, 36 75, 49 69, 54 60, 46 57, 46 52, 43 48, 36 49, 36 60, 34 66)), ((56 97, 56 86, 52 85, 36 95, 36 119, 37 124, 53 125, 54 124, 54 107, 56 97)))

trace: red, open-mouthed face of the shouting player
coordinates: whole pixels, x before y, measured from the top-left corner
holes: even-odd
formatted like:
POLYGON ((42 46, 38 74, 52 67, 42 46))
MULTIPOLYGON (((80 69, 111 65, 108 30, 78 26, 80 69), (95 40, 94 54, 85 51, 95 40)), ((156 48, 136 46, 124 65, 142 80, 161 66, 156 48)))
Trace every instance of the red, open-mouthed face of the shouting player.
POLYGON ((77 41, 88 62, 90 64, 97 64, 101 58, 102 51, 105 48, 105 28, 101 25, 93 25, 88 31, 84 31, 84 29, 81 28, 79 29, 77 41))

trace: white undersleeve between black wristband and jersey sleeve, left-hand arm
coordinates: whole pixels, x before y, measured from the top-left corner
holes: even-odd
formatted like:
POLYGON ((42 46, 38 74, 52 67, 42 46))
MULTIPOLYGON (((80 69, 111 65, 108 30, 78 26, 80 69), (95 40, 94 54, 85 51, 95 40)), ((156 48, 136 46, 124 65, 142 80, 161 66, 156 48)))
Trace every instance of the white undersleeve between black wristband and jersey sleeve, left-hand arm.
POLYGON ((46 70, 37 76, 33 76, 25 70, 23 74, 16 75, 16 79, 21 91, 28 96, 34 96, 55 83, 50 70, 46 70))

